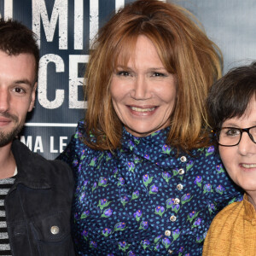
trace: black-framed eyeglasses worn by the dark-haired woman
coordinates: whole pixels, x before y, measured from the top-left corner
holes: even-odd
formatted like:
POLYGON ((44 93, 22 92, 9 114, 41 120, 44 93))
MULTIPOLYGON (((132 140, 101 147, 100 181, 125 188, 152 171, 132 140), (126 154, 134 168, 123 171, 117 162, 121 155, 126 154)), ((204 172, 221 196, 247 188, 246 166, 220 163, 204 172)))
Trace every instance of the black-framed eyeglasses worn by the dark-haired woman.
POLYGON ((222 127, 214 131, 218 144, 224 147, 233 147, 240 143, 241 135, 247 132, 253 143, 256 143, 256 125, 249 128, 222 127))

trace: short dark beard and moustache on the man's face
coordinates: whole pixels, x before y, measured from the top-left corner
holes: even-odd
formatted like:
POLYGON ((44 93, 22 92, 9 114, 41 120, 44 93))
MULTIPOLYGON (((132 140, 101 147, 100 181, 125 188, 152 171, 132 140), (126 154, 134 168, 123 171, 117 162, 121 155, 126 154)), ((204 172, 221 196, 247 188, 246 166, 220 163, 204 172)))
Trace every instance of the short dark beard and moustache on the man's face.
POLYGON ((23 127, 23 124, 19 123, 19 118, 10 113, 2 113, 1 116, 12 119, 15 123, 15 127, 8 132, 0 131, 0 147, 7 145, 12 142, 16 135, 18 135, 23 127))

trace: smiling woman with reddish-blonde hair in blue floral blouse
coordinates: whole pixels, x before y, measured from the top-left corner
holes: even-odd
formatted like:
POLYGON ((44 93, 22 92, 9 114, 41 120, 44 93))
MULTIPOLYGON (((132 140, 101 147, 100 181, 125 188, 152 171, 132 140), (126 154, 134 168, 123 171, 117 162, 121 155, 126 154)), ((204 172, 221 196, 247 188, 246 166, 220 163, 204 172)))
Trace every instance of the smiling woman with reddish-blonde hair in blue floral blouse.
POLYGON ((212 218, 238 195, 207 129, 220 76, 218 47, 177 5, 135 1, 102 26, 85 119, 61 154, 76 180, 79 255, 201 255, 212 218))

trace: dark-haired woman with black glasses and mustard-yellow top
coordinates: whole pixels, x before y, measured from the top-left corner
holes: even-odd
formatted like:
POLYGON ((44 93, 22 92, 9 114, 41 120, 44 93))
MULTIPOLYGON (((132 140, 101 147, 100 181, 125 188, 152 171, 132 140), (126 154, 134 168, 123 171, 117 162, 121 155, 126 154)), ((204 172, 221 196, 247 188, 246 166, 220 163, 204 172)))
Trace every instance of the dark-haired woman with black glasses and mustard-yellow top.
POLYGON ((256 62, 212 85, 207 99, 224 166, 244 189, 243 201, 213 219, 203 255, 256 255, 256 62))

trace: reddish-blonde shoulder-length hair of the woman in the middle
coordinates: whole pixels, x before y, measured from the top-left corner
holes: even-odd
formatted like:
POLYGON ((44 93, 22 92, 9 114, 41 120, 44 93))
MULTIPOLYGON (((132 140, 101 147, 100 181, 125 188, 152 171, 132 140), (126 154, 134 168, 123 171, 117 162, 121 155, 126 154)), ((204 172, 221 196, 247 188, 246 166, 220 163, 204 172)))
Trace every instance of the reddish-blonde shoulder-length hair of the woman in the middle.
POLYGON ((152 41, 166 70, 177 76, 177 102, 166 143, 185 151, 208 146, 205 100, 211 84, 221 77, 222 54, 188 10, 157 0, 127 4, 99 31, 84 76, 84 143, 98 150, 119 148, 122 123, 109 85, 117 62, 127 64, 140 35, 152 41))

